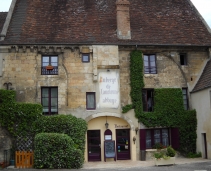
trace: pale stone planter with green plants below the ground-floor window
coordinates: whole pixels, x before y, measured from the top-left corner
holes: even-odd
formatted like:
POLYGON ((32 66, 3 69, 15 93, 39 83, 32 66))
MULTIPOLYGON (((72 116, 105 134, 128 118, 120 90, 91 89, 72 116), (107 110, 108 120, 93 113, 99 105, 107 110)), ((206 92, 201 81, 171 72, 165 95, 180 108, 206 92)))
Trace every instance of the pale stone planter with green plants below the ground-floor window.
POLYGON ((155 165, 171 165, 175 164, 176 151, 168 146, 166 149, 154 153, 155 165))

